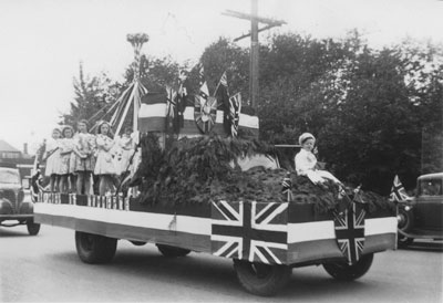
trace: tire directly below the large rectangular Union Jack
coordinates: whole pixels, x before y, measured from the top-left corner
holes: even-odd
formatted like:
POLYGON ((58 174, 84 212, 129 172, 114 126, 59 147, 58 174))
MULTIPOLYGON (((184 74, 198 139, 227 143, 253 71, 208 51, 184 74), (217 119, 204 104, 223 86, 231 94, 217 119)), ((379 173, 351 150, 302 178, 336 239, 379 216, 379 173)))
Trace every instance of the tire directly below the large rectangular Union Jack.
POLYGON ((234 259, 238 282, 249 293, 272 296, 288 284, 292 269, 234 259))

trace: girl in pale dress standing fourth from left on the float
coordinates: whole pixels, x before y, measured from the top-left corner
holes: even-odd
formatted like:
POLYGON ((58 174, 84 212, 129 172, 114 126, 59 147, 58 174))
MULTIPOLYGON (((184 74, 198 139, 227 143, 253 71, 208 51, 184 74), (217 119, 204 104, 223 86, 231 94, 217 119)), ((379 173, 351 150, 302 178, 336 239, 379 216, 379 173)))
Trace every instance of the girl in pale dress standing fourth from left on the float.
POLYGON ((102 122, 97 127, 96 135, 96 164, 94 174, 100 177, 99 194, 106 194, 106 189, 113 191, 113 177, 116 174, 115 163, 112 158, 112 147, 114 140, 111 135, 111 126, 107 122, 102 122))

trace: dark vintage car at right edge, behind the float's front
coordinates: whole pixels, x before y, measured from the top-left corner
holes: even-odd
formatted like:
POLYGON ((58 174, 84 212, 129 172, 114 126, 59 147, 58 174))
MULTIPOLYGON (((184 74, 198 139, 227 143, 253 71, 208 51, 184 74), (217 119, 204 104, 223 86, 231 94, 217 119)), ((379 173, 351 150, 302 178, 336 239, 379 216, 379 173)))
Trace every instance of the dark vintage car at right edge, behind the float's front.
POLYGON ((415 197, 399 202, 399 245, 414 239, 443 240, 443 173, 418 178, 415 197))

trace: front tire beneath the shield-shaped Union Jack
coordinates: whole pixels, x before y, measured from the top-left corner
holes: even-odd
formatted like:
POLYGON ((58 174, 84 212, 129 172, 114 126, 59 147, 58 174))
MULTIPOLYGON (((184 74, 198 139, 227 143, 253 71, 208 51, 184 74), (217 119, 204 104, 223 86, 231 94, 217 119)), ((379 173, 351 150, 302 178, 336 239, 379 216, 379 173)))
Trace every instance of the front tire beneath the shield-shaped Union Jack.
POLYGON ((360 257, 360 260, 352 265, 348 262, 324 263, 324 270, 334 279, 342 281, 352 281, 364 275, 372 265, 373 253, 360 257))

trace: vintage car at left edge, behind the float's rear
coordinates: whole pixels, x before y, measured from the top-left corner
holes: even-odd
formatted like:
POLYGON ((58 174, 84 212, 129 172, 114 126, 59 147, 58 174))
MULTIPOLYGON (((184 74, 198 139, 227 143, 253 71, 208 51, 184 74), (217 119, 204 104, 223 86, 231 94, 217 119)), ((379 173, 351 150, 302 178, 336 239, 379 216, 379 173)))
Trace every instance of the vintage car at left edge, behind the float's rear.
POLYGON ((35 236, 40 224, 34 223, 33 202, 29 190, 23 188, 28 184, 14 164, 0 163, 0 226, 27 224, 29 234, 35 236))

